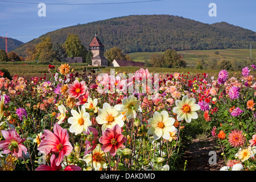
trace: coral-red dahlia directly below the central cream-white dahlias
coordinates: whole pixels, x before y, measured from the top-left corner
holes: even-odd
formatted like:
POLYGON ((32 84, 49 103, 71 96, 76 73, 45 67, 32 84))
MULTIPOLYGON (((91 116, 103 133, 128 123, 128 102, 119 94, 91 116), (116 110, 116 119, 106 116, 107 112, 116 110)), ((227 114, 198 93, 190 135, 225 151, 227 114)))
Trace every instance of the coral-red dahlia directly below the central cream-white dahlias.
POLYGON ((119 125, 115 125, 112 129, 108 128, 102 133, 99 142, 102 143, 102 150, 110 152, 110 155, 115 156, 118 148, 124 148, 123 143, 127 138, 123 137, 122 130, 119 125))

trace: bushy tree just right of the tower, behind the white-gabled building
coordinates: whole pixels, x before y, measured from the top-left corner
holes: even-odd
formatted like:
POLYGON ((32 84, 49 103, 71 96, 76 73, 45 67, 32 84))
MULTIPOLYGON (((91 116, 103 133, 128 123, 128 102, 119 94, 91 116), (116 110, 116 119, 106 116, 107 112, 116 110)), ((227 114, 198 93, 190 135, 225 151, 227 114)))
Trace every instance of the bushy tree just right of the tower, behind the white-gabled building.
POLYGON ((125 55, 118 47, 113 47, 104 53, 106 59, 108 59, 108 64, 110 65, 114 59, 119 60, 129 60, 132 61, 131 57, 129 55, 125 55))

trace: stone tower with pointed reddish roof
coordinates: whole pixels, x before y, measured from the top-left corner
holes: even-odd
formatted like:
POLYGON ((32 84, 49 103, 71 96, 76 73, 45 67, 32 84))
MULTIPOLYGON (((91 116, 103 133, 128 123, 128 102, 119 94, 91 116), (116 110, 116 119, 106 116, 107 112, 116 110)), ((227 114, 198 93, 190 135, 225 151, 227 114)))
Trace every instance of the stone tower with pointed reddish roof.
POLYGON ((95 32, 94 38, 90 43, 89 50, 93 53, 93 66, 108 66, 108 59, 104 57, 104 45, 98 39, 97 32, 95 32))

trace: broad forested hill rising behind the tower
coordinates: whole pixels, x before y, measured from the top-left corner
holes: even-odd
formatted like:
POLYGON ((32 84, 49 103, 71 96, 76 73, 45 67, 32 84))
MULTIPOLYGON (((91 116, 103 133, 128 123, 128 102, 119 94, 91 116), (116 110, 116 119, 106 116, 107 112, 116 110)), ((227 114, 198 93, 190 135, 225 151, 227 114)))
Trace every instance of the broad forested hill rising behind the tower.
MULTIPOLYGON (((97 30, 105 49, 119 47, 125 53, 159 52, 166 49, 225 49, 256 46, 256 32, 221 22, 206 24, 173 15, 130 15, 77 24, 48 32, 54 43, 64 43, 68 34, 79 35, 88 48, 97 30)), ((31 40, 15 51, 24 53, 31 40)))

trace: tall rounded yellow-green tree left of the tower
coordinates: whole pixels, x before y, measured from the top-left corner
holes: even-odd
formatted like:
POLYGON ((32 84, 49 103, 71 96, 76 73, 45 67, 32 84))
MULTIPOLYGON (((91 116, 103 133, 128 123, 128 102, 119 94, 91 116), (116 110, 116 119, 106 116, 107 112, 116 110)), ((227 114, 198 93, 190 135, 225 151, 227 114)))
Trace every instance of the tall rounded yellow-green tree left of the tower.
POLYGON ((80 57, 82 51, 84 51, 84 46, 81 44, 79 36, 76 34, 69 34, 67 39, 63 44, 65 53, 68 57, 80 57))

